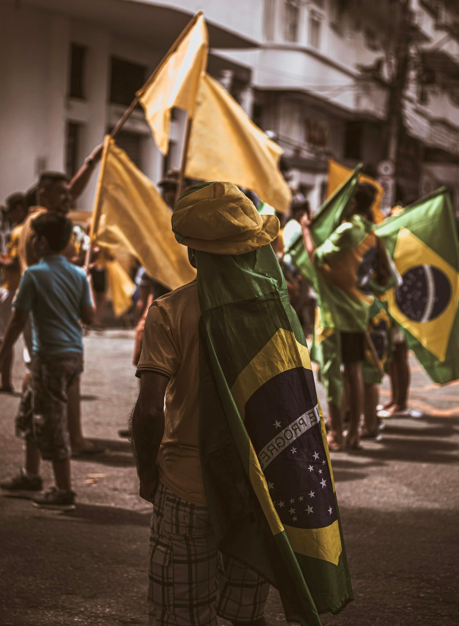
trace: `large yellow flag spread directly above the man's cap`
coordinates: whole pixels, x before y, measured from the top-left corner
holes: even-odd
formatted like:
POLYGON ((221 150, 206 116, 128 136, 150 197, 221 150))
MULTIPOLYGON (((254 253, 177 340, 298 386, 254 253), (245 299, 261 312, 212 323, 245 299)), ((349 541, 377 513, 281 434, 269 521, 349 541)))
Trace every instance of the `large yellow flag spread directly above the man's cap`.
POLYGON ((193 116, 187 177, 230 181, 284 213, 292 194, 279 170, 281 154, 220 83, 205 74, 193 116))

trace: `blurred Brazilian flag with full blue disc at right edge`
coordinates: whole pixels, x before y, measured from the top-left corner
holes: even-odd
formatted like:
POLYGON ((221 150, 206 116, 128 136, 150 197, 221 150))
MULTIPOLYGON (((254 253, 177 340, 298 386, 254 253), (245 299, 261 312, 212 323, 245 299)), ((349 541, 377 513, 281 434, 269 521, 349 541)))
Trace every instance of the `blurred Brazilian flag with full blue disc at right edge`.
POLYGON ((376 227, 403 284, 389 314, 434 382, 459 378, 459 244, 445 187, 376 227))

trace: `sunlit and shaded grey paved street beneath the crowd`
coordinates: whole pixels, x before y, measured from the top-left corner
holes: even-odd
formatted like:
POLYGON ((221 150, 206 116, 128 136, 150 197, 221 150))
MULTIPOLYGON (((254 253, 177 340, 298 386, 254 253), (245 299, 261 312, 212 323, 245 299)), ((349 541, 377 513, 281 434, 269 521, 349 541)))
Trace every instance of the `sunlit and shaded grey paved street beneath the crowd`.
MULTIPOLYGON (((130 444, 117 434, 137 394, 133 334, 93 333, 85 342, 85 434, 108 451, 96 461, 73 463, 75 513, 0 498, 3 626, 148 622, 151 507, 137 496, 130 444), (93 481, 91 475, 100 476, 93 481)), ((14 374, 19 389, 19 357, 14 374)), ((413 361, 412 388, 411 406, 429 416, 388 420, 381 443, 333 455, 356 600, 341 615, 325 616, 324 626, 458 623, 459 384, 437 388, 413 361)), ((387 385, 383 394, 384 400, 387 385)), ((2 480, 22 463, 13 429, 17 405, 18 397, 0 397, 2 480)), ((43 476, 51 483, 49 464, 43 476)), ((286 623, 274 590, 266 617, 270 625, 286 623)))

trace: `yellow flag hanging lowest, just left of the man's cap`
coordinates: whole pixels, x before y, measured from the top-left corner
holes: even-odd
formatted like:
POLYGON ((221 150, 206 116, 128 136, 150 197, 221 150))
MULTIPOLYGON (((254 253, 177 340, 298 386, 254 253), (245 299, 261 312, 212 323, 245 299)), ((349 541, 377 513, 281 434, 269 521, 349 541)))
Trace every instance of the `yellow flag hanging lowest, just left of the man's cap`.
POLYGON ((187 250, 175 240, 167 204, 113 139, 101 163, 98 185, 98 243, 127 250, 168 289, 194 279, 196 270, 188 262, 187 250))

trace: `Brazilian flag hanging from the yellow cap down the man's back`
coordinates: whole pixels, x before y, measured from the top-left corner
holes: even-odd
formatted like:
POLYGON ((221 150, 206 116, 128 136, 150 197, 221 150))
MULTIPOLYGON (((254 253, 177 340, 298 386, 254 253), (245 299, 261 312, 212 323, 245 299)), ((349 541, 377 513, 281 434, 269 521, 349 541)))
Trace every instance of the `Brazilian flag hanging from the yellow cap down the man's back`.
POLYGON ((306 340, 270 245, 196 255, 200 455, 219 548, 279 589, 287 620, 319 626, 353 592, 306 340))

